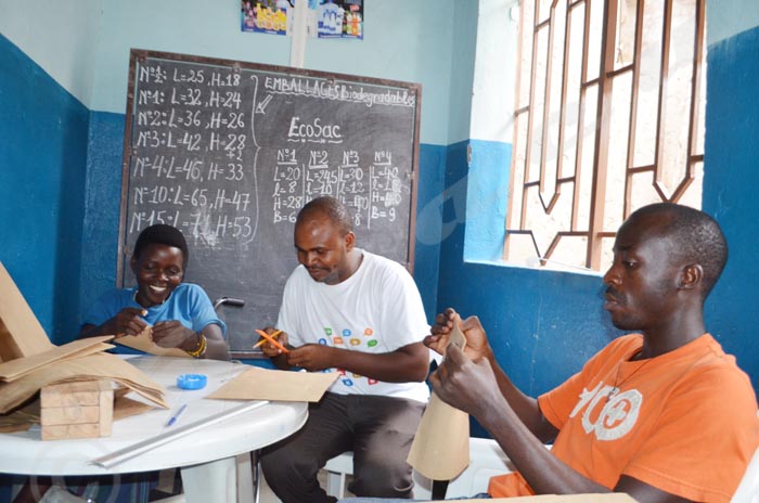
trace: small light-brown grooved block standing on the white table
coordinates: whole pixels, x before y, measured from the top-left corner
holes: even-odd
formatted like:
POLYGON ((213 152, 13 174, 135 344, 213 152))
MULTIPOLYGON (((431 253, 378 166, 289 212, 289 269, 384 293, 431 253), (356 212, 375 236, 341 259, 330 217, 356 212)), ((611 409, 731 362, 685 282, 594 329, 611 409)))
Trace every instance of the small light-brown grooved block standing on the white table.
POLYGON ((111 381, 51 384, 40 390, 42 440, 111 435, 114 391, 111 381))

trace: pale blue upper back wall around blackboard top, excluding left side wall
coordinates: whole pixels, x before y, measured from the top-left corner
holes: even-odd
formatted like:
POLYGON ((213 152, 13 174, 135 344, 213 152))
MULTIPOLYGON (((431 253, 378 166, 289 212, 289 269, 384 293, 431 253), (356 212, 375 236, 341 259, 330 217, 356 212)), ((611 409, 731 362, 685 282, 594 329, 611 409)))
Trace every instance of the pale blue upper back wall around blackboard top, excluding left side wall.
MULTIPOLYGON (((93 109, 124 113, 130 48, 290 65, 292 38, 242 33, 236 0, 103 1, 93 109)), ((453 3, 369 1, 364 4, 364 39, 308 39, 304 67, 420 82, 422 142, 448 144, 450 136, 463 140, 468 134, 468 107, 464 127, 449 131, 449 122, 460 122, 449 117, 448 104, 453 3)), ((474 38, 474 33, 462 35, 467 36, 474 38)))

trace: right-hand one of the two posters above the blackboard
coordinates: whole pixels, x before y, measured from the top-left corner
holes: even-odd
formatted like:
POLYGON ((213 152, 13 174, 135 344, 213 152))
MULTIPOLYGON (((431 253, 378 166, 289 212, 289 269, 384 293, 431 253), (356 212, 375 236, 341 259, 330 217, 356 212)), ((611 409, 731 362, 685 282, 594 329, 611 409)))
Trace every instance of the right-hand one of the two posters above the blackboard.
POLYGON ((363 39, 363 0, 309 0, 308 7, 311 36, 363 39))

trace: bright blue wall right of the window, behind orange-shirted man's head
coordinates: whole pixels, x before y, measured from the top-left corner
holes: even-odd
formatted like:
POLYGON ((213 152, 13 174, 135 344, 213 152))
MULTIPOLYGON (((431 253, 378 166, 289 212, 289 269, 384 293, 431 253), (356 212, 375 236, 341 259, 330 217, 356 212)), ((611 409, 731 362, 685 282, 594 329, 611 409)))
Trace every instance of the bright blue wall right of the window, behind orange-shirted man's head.
MULTIPOLYGON (((755 4, 755 13, 759 8, 755 4)), ((728 237, 730 257, 707 300, 707 326, 737 357, 759 390, 759 27, 709 46, 707 53, 705 211, 728 237)))

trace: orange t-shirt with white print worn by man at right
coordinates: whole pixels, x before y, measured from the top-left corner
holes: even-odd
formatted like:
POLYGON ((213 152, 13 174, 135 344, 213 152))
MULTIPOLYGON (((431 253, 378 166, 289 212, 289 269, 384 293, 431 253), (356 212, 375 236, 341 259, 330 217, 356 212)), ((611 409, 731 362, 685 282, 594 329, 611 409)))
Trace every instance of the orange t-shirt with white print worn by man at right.
MULTIPOLYGON (((613 340, 538 399, 559 430, 553 454, 609 489, 627 475, 687 500, 730 502, 759 446, 748 376, 709 334, 630 361, 642 345, 641 335, 613 340)), ((532 493, 518 474, 493 477, 488 492, 532 493)))

